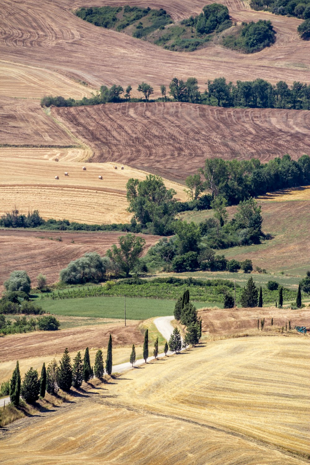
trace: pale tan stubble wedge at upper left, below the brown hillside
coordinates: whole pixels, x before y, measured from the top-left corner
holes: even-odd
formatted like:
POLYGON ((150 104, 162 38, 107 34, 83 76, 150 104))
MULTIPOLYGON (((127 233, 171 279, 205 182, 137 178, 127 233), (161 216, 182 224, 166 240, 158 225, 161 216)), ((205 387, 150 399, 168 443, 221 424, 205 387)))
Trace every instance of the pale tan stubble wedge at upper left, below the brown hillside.
POLYGON ((0 95, 27 99, 62 95, 66 99, 82 99, 90 97, 91 90, 60 73, 0 60, 0 95))

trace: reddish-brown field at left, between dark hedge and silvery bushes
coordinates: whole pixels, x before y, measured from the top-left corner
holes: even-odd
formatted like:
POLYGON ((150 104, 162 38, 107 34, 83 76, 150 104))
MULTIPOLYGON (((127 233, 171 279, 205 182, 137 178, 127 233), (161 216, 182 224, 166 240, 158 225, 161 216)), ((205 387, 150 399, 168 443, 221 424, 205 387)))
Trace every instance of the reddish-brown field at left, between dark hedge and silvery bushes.
MULTIPOLYGON (((39 273, 46 275, 48 284, 58 281, 60 270, 71 260, 86 252, 104 255, 123 234, 0 230, 0 288, 16 268, 26 270, 33 281, 39 273), (56 240, 60 237, 61 242, 56 240)), ((160 239, 159 236, 142 236, 146 241, 144 253, 160 239)))

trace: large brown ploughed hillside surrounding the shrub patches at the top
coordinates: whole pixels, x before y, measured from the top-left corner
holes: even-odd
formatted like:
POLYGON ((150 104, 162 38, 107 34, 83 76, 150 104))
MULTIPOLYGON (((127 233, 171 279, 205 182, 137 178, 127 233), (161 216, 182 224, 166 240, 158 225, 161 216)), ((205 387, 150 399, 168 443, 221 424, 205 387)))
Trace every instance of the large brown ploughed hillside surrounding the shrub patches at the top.
POLYGON ((97 5, 140 5, 163 7, 173 19, 201 12, 206 0, 4 0, 1 3, 0 57, 15 63, 46 67, 92 86, 102 84, 134 89, 147 80, 159 94, 176 75, 196 76, 200 86, 208 79, 225 76, 228 80, 256 79, 276 83, 285 80, 309 81, 310 42, 300 40, 297 26, 301 20, 271 13, 254 12, 238 0, 223 1, 233 20, 271 20, 277 30, 275 45, 259 53, 242 54, 210 44, 193 53, 175 53, 146 41, 96 27, 76 17, 72 9, 97 5))

